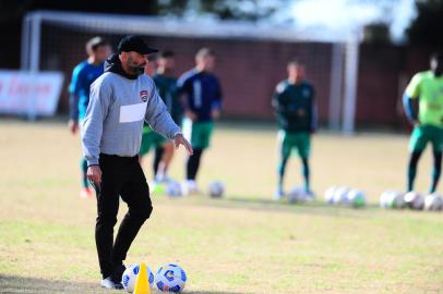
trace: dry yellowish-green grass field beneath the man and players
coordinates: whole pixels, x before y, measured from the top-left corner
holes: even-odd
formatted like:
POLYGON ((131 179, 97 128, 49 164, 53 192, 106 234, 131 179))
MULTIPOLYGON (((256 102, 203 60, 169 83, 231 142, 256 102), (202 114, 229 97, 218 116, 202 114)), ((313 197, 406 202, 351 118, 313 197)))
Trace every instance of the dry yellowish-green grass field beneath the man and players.
MULTIPOLYGON (((0 293, 113 293, 97 286, 96 208, 79 197, 79 137, 62 123, 2 120, 0 145, 0 293)), ((183 154, 171 168, 177 179, 183 154)), ((406 156, 404 135, 319 134, 318 200, 276 204, 275 130, 223 125, 200 182, 224 181, 227 197, 154 195, 154 213, 127 264, 178 262, 189 275, 187 293, 443 293, 443 213, 376 208, 383 189, 404 186, 406 156), (366 191, 370 206, 326 206, 323 191, 337 184, 366 191)), ((421 191, 430 163, 427 152, 421 191)), ((288 186, 301 183, 298 167, 292 160, 288 186)), ((122 205, 119 219, 124 211, 122 205)))

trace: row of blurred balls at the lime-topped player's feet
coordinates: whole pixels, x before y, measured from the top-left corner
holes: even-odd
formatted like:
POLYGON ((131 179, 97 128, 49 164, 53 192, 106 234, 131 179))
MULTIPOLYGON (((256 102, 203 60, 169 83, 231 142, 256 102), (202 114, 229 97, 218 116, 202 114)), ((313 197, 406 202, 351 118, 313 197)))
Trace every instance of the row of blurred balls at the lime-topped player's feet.
POLYGON ((385 191, 380 195, 380 207, 384 209, 443 210, 443 198, 436 193, 423 196, 417 192, 385 191))

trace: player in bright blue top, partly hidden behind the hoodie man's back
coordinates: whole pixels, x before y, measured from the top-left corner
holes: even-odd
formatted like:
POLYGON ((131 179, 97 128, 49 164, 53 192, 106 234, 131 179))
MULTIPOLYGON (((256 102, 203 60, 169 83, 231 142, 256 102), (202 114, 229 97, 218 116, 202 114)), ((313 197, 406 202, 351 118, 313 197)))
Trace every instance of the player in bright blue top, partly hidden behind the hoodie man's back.
MULTIPOLYGON (((79 121, 85 118, 87 105, 89 103, 91 84, 104 73, 104 62, 111 54, 109 42, 101 37, 94 37, 86 42, 87 60, 77 64, 73 72, 70 93, 70 120, 69 128, 72 134, 79 130, 79 121)), ((80 196, 92 197, 92 189, 86 177, 87 162, 81 160, 82 189, 80 196)))

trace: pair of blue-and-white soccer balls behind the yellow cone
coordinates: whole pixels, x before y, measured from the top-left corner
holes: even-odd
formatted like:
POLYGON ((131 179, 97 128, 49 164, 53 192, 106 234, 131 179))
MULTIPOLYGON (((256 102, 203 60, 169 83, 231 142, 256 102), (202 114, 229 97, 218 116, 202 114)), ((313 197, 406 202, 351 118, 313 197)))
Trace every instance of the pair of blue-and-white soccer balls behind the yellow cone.
MULTIPOLYGON (((121 283, 129 293, 134 292, 135 281, 139 277, 140 265, 132 265, 127 268, 121 277, 121 283)), ((181 292, 184 289, 187 282, 187 273, 182 268, 177 265, 168 264, 160 267, 157 273, 151 271, 149 267, 146 267, 147 280, 151 287, 156 287, 161 292, 181 292)))

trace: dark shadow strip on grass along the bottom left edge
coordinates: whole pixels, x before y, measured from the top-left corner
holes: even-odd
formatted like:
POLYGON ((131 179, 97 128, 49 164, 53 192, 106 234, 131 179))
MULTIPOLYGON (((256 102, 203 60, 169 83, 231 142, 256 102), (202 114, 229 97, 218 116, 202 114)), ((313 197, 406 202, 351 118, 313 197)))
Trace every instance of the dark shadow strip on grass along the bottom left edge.
MULTIPOLYGON (((127 293, 125 291, 101 289, 98 283, 70 282, 60 280, 47 280, 37 278, 26 278, 17 275, 7 275, 0 273, 0 293, 4 294, 96 294, 96 293, 127 293)), ((154 294, 161 293, 152 291, 154 294)), ((220 291, 184 291, 185 294, 240 294, 220 291)))

